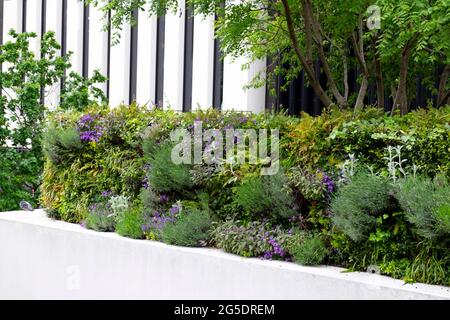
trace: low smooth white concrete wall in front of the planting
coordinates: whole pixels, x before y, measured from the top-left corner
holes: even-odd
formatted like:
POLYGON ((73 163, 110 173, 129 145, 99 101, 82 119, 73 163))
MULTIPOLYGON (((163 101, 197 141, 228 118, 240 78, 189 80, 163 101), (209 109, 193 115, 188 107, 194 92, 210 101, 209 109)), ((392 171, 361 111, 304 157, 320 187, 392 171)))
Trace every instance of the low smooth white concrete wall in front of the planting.
POLYGON ((0 299, 450 299, 450 288, 0 213, 0 299))

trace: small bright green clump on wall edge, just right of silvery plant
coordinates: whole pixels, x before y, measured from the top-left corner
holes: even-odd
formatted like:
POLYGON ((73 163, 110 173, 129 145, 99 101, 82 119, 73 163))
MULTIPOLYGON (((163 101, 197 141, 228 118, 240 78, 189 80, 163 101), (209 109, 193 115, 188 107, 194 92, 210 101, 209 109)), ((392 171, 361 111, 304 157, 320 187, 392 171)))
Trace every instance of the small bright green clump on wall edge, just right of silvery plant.
POLYGON ((134 205, 124 211, 116 217, 116 221, 116 232, 121 236, 133 239, 144 238, 144 232, 141 227, 143 224, 142 207, 140 205, 134 205))

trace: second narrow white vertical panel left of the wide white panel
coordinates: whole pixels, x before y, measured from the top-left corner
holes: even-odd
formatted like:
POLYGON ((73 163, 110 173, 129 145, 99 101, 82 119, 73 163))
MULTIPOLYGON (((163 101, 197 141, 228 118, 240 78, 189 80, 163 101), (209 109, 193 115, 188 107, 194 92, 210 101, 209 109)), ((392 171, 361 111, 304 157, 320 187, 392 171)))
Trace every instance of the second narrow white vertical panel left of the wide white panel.
POLYGON ((176 13, 166 14, 163 107, 183 110, 184 0, 176 13))

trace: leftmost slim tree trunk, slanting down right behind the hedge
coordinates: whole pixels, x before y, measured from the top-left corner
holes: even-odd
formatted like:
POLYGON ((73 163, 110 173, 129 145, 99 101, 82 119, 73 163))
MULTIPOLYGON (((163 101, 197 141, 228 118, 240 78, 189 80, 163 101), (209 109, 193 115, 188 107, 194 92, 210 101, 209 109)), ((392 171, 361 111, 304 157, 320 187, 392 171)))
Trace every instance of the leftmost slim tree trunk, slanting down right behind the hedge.
POLYGON ((330 99, 330 97, 327 95, 325 90, 320 85, 320 82, 315 75, 314 69, 311 68, 307 59, 305 59, 300 50, 298 38, 294 30, 294 22, 292 21, 292 13, 289 7, 288 0, 281 0, 281 2, 283 3, 284 11, 286 14, 286 23, 289 31, 289 38, 291 39, 295 54, 299 58, 300 63, 302 64, 302 67, 305 70, 306 75, 308 76, 309 83, 311 84, 311 87, 313 88, 315 94, 326 107, 329 107, 333 104, 333 101, 330 99))

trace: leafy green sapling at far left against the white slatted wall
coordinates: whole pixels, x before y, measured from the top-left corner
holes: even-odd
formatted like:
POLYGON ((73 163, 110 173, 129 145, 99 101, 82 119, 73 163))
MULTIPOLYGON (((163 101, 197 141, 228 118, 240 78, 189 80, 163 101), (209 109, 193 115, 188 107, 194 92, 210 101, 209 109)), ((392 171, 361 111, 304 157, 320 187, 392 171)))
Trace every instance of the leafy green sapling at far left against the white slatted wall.
POLYGON ((40 54, 30 50, 32 32, 9 32, 0 46, 0 211, 18 208, 20 200, 35 199, 42 168, 42 131, 47 111, 41 97, 45 87, 65 78, 63 108, 81 109, 104 95, 94 85, 106 79, 96 72, 91 79, 71 73, 71 53, 60 56, 54 32, 43 35, 40 54), (93 90, 94 88, 94 90, 93 90), (94 100, 95 99, 95 100, 94 100))

